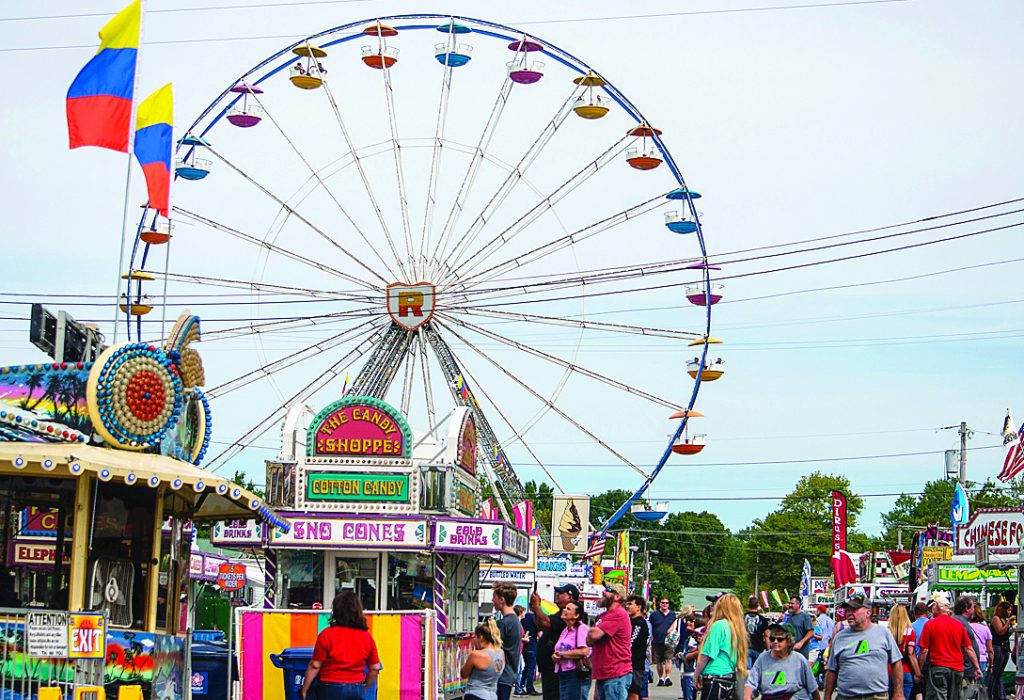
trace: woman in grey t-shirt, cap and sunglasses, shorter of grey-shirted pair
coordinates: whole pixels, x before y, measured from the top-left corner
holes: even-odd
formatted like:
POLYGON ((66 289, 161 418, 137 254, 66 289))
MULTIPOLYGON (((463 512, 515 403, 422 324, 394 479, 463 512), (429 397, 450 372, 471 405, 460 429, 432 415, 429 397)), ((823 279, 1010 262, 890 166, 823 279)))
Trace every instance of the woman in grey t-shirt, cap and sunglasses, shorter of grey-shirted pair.
POLYGON ((743 687, 743 700, 821 700, 811 664, 794 654, 797 630, 790 623, 768 625, 769 651, 758 655, 743 687))

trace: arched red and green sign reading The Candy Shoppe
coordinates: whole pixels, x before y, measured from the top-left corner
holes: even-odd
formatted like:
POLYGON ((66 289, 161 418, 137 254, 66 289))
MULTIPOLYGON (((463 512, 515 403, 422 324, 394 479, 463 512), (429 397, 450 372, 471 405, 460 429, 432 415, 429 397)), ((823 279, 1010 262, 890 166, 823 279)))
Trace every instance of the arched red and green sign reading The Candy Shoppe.
POLYGON ((309 424, 308 456, 409 458, 412 433, 401 414, 372 396, 351 396, 327 406, 309 424))

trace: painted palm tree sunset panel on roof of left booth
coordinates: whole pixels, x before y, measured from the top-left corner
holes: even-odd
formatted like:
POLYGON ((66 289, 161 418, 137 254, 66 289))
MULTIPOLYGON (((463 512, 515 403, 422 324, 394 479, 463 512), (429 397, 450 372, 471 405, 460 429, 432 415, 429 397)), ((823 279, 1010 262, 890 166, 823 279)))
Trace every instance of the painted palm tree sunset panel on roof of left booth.
POLYGON ((85 442, 91 362, 0 367, 0 440, 85 442))

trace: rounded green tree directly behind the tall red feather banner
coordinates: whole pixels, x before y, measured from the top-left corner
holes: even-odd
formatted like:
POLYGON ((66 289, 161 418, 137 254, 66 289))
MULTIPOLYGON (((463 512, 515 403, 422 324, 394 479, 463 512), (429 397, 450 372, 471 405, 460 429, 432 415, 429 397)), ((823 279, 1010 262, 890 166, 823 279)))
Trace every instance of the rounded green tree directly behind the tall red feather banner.
POLYGON ((847 546, 853 552, 869 548, 870 538, 856 531, 864 501, 853 493, 850 480, 814 472, 802 477, 777 510, 756 519, 745 532, 746 574, 740 581, 741 593, 754 590, 755 578, 762 590, 788 588, 796 593, 805 559, 811 571, 830 570, 834 490, 843 491, 847 497, 847 546))

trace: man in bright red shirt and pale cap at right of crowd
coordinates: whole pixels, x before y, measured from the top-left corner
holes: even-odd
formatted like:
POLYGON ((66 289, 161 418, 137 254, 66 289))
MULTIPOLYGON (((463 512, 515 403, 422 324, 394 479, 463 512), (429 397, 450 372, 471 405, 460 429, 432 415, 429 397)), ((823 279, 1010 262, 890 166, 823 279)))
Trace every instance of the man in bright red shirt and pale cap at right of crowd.
POLYGON ((974 666, 972 677, 981 677, 981 664, 971 646, 971 638, 959 620, 951 616, 949 598, 944 594, 932 597, 935 617, 925 623, 918 646, 925 671, 926 700, 959 700, 964 683, 965 663, 974 666))

